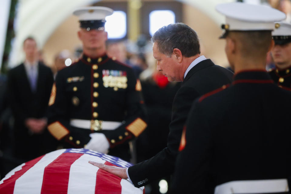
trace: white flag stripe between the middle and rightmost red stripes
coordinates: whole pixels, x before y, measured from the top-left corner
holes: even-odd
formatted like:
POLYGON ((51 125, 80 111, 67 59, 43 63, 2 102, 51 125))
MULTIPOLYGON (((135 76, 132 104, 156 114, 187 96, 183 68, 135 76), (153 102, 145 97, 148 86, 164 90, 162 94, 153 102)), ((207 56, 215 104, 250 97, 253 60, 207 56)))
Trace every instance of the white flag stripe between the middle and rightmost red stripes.
POLYGON ((89 160, 105 163, 105 160, 89 154, 84 154, 77 159, 70 168, 68 194, 84 193, 84 188, 86 189, 86 194, 95 194, 96 175, 99 168, 89 164, 89 160))

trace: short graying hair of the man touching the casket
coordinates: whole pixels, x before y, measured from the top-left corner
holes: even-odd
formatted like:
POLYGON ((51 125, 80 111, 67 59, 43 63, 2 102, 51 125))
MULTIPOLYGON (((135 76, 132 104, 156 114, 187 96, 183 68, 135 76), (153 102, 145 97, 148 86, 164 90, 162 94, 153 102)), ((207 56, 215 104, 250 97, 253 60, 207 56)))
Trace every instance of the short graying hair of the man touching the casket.
POLYGON ((172 55, 175 48, 179 49, 185 57, 200 54, 199 38, 196 32, 183 23, 163 26, 155 32, 151 41, 157 44, 159 52, 168 57, 172 55))

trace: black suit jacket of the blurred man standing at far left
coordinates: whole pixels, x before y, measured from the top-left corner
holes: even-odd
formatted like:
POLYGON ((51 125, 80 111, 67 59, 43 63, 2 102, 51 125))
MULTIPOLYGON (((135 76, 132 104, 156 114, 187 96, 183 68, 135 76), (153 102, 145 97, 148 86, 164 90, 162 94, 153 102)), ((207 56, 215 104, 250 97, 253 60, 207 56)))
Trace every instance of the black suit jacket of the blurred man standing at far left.
MULTIPOLYGON (((38 80, 35 92, 31 90, 23 63, 8 72, 8 100, 15 118, 15 150, 16 155, 20 154, 21 158, 31 155, 28 157, 30 159, 42 154, 37 153, 37 151, 33 153, 29 149, 36 150, 40 146, 38 144, 41 143, 36 141, 42 139, 39 136, 43 135, 32 135, 25 127, 24 122, 27 118, 46 117, 53 82, 51 69, 41 62, 38 63, 38 80), (22 152, 26 154, 21 154, 22 152)), ((47 132, 45 131, 45 133, 47 132)))

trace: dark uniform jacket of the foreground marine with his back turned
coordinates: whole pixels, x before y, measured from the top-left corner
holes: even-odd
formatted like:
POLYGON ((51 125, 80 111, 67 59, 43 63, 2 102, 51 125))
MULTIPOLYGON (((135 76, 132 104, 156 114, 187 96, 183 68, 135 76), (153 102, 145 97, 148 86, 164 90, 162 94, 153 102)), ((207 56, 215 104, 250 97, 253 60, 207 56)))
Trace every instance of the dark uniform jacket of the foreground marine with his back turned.
POLYGON ((234 79, 192 106, 173 193, 213 194, 226 182, 290 177, 291 92, 263 71, 234 79))

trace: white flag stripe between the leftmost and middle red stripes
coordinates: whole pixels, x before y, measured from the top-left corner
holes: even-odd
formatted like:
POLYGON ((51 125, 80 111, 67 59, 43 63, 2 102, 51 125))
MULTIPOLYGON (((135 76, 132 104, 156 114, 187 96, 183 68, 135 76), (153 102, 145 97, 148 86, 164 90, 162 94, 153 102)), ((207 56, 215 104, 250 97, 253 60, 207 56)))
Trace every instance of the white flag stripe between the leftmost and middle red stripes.
POLYGON ((40 194, 45 167, 58 158, 65 150, 59 149, 43 156, 42 159, 16 180, 13 194, 40 194))

